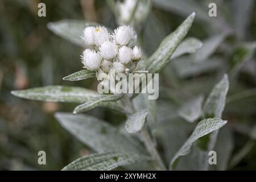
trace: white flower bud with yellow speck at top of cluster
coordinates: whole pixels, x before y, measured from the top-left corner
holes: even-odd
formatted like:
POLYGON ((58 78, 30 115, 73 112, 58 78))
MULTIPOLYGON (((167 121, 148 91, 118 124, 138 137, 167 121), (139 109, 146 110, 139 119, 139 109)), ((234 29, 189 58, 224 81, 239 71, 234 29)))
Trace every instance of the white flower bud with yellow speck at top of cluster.
POLYGON ((96 27, 93 32, 93 41, 96 46, 101 46, 102 43, 110 38, 109 32, 105 27, 96 27))

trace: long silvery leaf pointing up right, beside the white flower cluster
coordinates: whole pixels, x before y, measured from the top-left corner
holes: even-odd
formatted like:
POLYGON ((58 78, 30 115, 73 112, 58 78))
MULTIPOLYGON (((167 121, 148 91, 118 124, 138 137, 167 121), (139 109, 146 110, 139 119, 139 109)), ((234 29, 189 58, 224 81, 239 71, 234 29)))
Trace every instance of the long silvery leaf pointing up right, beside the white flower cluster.
POLYGON ((146 69, 149 72, 159 72, 160 69, 170 61, 172 53, 174 53, 179 43, 184 39, 185 35, 187 35, 194 18, 195 13, 192 13, 174 32, 164 38, 155 53, 146 61, 146 69))

